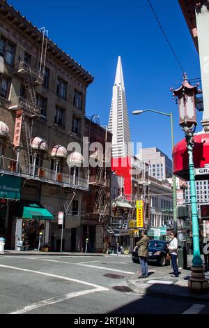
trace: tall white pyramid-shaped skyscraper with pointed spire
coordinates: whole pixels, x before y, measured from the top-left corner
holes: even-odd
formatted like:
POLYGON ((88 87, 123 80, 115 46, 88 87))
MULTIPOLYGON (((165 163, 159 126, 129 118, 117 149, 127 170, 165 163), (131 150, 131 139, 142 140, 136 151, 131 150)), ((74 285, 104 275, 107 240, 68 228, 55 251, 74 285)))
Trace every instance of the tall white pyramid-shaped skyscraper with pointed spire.
POLYGON ((121 57, 118 57, 116 78, 112 91, 111 110, 109 114, 108 131, 112 133, 112 157, 132 155, 130 126, 127 115, 125 85, 121 57))

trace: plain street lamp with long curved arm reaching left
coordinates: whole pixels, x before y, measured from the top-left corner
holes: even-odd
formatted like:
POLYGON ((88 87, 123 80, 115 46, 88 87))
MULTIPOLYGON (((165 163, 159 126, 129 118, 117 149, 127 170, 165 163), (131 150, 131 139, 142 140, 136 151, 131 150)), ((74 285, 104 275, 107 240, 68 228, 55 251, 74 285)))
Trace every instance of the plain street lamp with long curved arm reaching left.
MULTIPOLYGON (((174 147, 174 137, 173 137, 173 113, 164 113, 164 112, 158 112, 157 110, 134 110, 132 112, 133 115, 139 115, 144 112, 154 112, 157 114, 162 114, 165 116, 169 116, 171 119, 171 144, 172 144, 172 151, 174 147)), ((173 175, 173 223, 174 223, 174 230, 177 232, 178 225, 177 225, 177 213, 176 213, 176 176, 173 175)))

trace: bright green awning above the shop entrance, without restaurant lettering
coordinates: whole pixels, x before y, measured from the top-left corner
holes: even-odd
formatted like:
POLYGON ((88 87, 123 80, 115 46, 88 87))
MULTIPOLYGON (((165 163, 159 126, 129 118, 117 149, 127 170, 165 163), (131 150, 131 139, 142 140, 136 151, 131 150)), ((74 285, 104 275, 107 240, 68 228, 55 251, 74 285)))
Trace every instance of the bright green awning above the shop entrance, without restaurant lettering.
POLYGON ((16 204, 15 214, 20 218, 54 220, 54 216, 39 202, 21 200, 16 204))

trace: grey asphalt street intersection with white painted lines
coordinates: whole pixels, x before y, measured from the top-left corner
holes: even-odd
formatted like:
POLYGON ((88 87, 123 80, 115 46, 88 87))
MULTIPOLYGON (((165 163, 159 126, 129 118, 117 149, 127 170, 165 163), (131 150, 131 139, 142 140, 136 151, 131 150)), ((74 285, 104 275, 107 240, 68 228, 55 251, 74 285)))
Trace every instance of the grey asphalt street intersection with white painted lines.
POLYGON ((1 255, 0 314, 209 313, 209 304, 127 292, 127 279, 138 270, 130 255, 1 255))

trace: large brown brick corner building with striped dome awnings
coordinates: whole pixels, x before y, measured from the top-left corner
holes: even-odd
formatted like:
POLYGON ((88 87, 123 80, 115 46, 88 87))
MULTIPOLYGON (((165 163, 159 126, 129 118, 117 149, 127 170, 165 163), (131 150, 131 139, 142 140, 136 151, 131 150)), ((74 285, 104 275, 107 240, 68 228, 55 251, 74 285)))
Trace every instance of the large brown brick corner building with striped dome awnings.
POLYGON ((81 250, 82 192, 88 190, 82 137, 91 82, 44 28, 0 0, 0 233, 6 247, 16 248, 19 239, 37 248, 40 232, 40 246, 47 246, 54 232, 56 251, 61 244, 63 251, 81 250))

